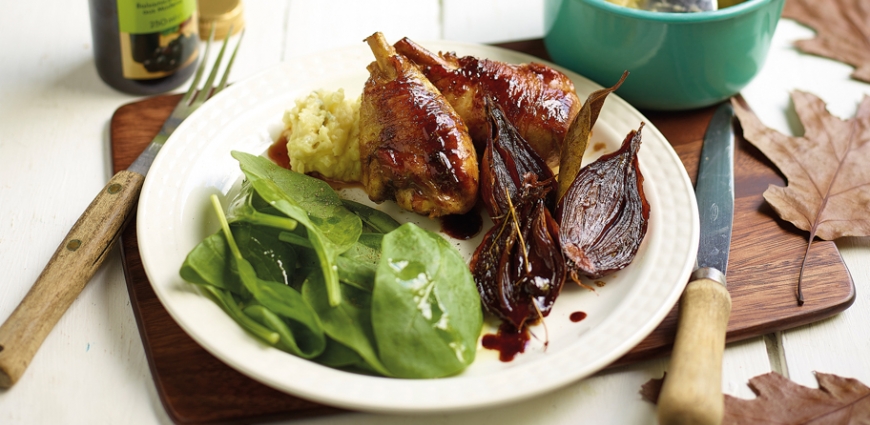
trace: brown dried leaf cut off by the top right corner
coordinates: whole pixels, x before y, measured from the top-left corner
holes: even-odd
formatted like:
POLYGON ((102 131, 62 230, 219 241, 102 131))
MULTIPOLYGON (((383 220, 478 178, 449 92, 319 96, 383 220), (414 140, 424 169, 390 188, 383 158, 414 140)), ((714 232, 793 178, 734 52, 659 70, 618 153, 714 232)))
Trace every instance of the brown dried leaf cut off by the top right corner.
POLYGON ((815 38, 796 42, 798 49, 852 65, 852 78, 870 83, 870 2, 788 0, 782 17, 816 31, 815 38))

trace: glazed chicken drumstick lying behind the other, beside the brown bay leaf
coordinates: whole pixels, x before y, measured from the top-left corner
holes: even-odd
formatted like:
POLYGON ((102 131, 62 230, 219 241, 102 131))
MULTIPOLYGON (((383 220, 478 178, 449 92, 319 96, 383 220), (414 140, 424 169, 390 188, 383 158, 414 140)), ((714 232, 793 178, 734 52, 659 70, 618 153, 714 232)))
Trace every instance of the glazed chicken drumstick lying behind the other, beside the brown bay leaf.
POLYGON ((488 131, 484 98, 489 96, 547 164, 558 165, 565 134, 582 104, 565 74, 534 62, 512 65, 454 53, 436 55, 407 37, 394 46, 453 105, 480 152, 488 131))

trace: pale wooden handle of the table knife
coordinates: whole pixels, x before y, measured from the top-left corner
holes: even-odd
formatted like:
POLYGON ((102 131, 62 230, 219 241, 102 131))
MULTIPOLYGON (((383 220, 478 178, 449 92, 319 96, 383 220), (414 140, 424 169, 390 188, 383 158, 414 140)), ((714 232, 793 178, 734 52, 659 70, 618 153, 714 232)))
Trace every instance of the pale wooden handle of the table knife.
POLYGON ((722 283, 701 278, 686 286, 671 363, 658 400, 659 424, 722 422, 722 352, 730 315, 731 295, 722 283))

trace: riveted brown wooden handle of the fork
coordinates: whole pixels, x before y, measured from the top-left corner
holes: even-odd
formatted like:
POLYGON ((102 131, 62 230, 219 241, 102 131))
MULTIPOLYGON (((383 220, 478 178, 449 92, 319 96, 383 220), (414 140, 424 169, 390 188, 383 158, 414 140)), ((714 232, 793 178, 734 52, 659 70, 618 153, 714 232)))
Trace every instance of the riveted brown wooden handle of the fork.
POLYGON ((145 177, 115 174, 79 217, 36 283, 0 326, 0 388, 11 387, 84 289, 133 212, 145 177))

